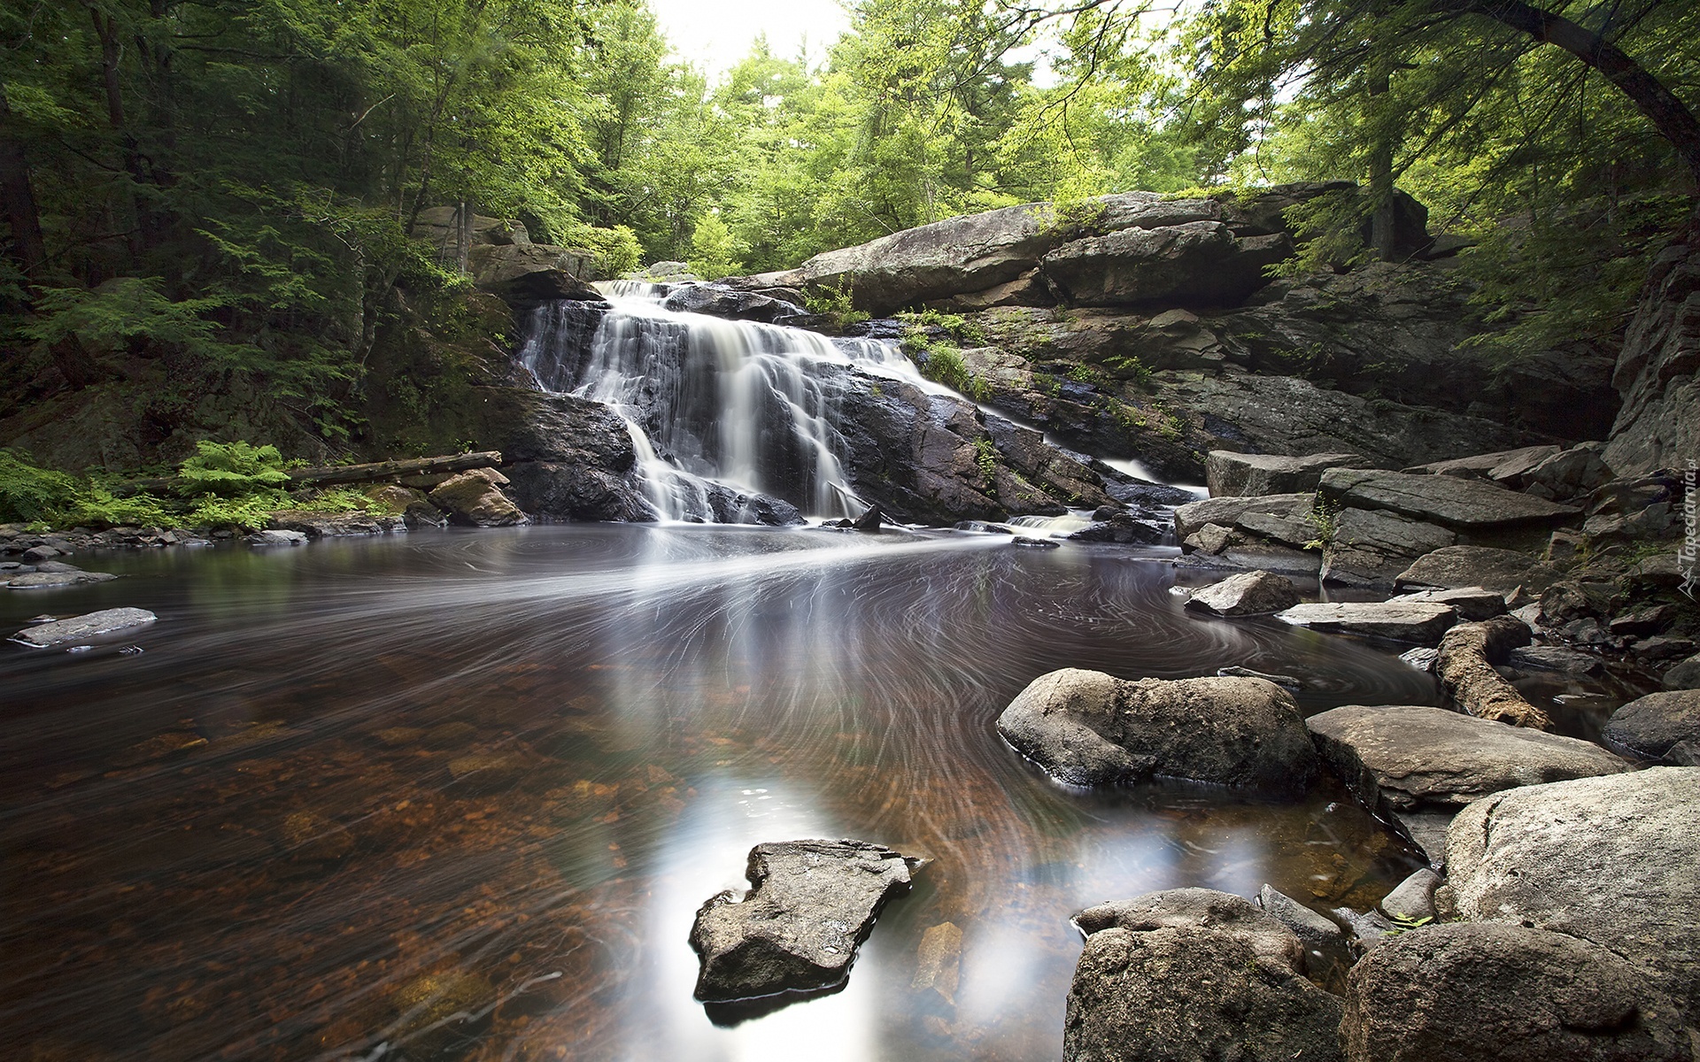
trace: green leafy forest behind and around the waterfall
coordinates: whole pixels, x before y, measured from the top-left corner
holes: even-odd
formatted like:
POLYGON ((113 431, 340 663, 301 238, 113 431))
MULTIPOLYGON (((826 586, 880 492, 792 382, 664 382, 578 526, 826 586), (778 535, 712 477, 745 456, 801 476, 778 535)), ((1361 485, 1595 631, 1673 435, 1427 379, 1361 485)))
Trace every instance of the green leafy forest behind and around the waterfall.
POLYGON ((758 37, 709 78, 638 0, 10 0, 0 418, 141 357, 163 420, 238 386, 347 447, 382 328, 464 285, 413 238, 442 204, 604 277, 719 277, 1020 202, 1345 178, 1282 268, 1389 253, 1409 192, 1474 245, 1501 359, 1620 331, 1693 204, 1688 3, 850 14, 821 63, 758 37))

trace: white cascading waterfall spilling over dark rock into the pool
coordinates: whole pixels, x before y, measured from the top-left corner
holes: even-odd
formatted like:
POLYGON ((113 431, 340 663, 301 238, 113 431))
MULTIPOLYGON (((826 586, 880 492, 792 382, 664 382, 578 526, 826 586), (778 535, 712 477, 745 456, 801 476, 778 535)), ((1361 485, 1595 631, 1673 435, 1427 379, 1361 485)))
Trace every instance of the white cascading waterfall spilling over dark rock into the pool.
POLYGON ((675 313, 661 284, 598 287, 612 309, 588 342, 583 304, 547 302, 518 359, 539 387, 626 418, 663 518, 728 518, 716 506, 728 488, 819 517, 865 510, 843 469, 838 408, 855 370, 921 384, 896 343, 675 313))

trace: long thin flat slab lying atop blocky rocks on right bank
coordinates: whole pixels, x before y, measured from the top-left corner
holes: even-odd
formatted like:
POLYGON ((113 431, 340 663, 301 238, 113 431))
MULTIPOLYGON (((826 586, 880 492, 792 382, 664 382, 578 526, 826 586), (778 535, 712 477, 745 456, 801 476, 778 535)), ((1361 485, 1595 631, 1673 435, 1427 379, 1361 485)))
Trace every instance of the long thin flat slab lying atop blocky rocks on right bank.
POLYGON ((1550 525, 1581 510, 1530 498, 1479 479, 1413 476, 1379 469, 1329 469, 1318 493, 1341 506, 1379 508, 1455 530, 1550 525))

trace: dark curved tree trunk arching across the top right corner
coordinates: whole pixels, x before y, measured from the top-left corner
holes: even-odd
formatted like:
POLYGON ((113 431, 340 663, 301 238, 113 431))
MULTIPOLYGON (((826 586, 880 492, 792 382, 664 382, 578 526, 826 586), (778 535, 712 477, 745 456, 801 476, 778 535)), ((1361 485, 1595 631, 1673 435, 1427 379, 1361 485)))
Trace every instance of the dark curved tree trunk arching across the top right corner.
POLYGON ((1486 15, 1503 25, 1554 44, 1600 71, 1652 122, 1688 167, 1700 187, 1700 121, 1674 92, 1647 73, 1622 48, 1569 19, 1523 0, 1431 0, 1440 12, 1486 15))

